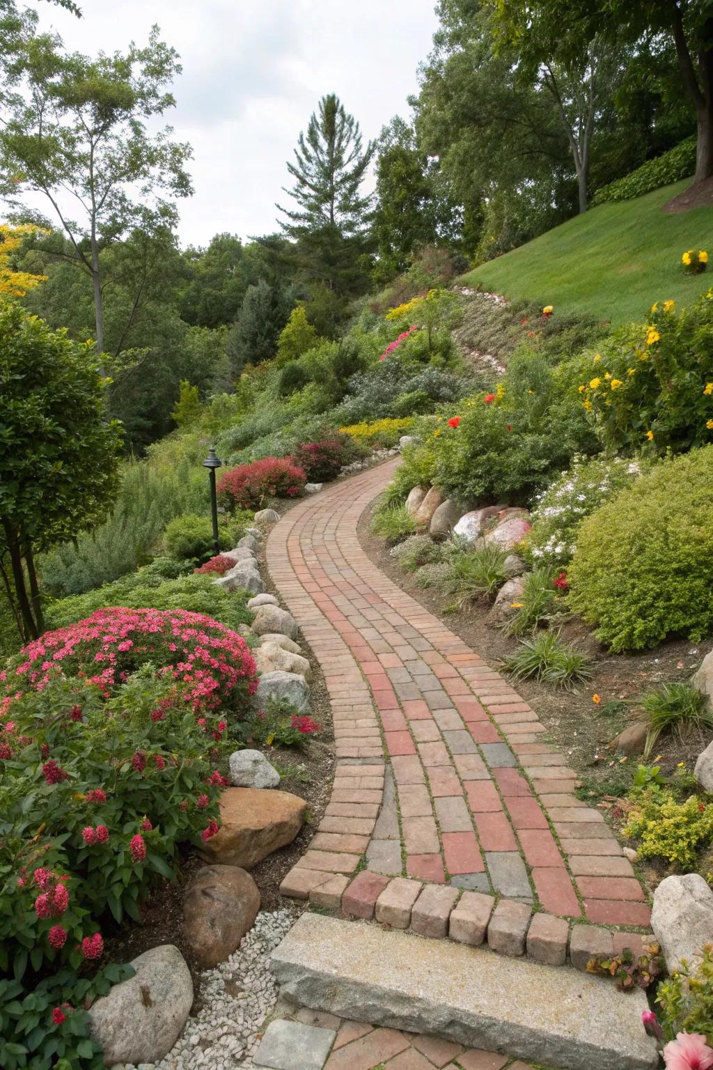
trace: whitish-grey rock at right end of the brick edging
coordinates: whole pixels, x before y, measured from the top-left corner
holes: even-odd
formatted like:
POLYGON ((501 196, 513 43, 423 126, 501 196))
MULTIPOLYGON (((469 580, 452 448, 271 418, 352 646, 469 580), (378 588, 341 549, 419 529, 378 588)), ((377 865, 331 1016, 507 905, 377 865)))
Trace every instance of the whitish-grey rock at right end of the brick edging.
POLYGON ((668 972, 681 960, 700 961, 703 944, 713 941, 713 891, 698 873, 667 876, 653 893, 651 928, 661 944, 668 972))

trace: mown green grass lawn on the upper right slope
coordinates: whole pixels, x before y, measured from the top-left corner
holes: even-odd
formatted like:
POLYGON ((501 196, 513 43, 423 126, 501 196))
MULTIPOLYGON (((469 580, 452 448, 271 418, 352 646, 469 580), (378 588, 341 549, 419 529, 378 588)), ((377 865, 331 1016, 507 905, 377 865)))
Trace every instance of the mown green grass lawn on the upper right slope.
POLYGON ((693 301, 713 284, 713 207, 662 212, 689 180, 568 219, 462 281, 512 300, 590 312, 617 325, 641 320, 654 301, 693 301), (681 255, 708 249, 711 271, 684 275, 681 255))

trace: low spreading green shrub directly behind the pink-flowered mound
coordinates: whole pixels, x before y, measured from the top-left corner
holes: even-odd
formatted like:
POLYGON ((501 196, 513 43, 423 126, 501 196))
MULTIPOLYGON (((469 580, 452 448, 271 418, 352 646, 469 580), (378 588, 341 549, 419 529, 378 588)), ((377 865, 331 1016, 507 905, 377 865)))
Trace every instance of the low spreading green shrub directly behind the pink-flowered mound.
MULTIPOLYGON (((230 567, 235 564, 231 559, 224 560, 230 561, 230 567)), ((175 562, 170 564, 176 569, 180 567, 175 562)), ((52 602, 47 611, 49 627, 63 628, 67 624, 83 621, 97 609, 111 606, 127 609, 183 609, 219 621, 233 631, 252 620, 246 598, 236 591, 229 592, 216 585, 215 574, 162 579, 154 569, 154 565, 146 565, 130 576, 96 587, 86 595, 73 595, 52 602)))

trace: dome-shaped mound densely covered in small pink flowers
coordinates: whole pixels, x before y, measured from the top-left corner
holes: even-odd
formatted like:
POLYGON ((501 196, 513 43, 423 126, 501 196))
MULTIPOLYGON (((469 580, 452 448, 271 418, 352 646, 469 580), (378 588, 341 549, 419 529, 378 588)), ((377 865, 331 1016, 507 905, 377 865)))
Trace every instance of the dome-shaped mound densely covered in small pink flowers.
POLYGON ((0 672, 0 716, 17 694, 41 691, 63 673, 108 696, 151 662, 186 685, 196 708, 241 709, 258 686, 245 641, 223 624, 187 610, 99 609, 86 621, 47 631, 0 672))

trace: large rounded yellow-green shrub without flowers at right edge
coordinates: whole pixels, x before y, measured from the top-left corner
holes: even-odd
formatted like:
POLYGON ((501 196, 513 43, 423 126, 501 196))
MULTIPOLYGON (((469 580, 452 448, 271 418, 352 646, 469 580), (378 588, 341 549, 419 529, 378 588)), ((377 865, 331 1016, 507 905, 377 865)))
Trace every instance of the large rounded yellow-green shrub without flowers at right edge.
POLYGON ((613 651, 713 627, 713 446, 665 460, 588 517, 570 605, 613 651))

